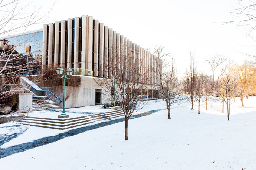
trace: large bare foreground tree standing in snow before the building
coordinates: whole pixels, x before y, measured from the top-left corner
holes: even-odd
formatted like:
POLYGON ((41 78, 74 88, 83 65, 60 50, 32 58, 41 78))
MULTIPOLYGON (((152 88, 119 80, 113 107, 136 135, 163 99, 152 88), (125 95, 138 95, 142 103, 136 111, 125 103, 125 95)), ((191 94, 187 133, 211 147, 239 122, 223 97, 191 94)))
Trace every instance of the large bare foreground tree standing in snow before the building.
POLYGON ((107 78, 95 78, 95 81, 104 89, 109 98, 112 96, 111 88, 114 88, 115 83, 115 102, 121 106, 124 113, 125 140, 128 140, 128 120, 134 113, 137 103, 143 99, 141 98, 141 91, 148 88, 151 75, 148 75, 147 68, 142 67, 145 57, 138 59, 138 53, 126 50, 125 45, 123 48, 121 47, 121 50, 113 50, 113 56, 116 56, 116 62, 112 63, 110 73, 113 78, 118 80, 112 82, 111 79, 107 78), (137 67, 137 64, 140 65, 140 68, 137 67), (119 68, 119 65, 122 67, 119 68))

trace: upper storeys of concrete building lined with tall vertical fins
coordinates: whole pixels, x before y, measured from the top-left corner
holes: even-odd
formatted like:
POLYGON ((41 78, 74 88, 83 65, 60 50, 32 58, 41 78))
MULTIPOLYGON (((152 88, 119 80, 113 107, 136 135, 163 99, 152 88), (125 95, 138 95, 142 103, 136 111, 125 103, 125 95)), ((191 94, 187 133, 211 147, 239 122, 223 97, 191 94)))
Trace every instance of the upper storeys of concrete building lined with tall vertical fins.
MULTIPOLYGON (((119 61, 115 58, 115 51, 122 47, 137 52, 138 60, 145 59, 144 67, 154 75, 154 55, 92 16, 43 25, 43 68, 52 65, 79 68, 82 75, 86 74, 84 70, 89 70, 93 76, 109 78, 111 64, 119 61)), ((151 84, 156 84, 155 77, 152 76, 151 84)))

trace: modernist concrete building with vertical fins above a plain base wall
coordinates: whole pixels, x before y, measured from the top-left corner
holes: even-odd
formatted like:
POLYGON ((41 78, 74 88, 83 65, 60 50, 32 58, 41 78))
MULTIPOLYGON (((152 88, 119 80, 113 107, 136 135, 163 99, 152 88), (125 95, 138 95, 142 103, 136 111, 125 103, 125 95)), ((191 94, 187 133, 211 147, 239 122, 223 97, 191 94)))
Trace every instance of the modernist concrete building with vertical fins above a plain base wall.
POLYGON ((81 85, 73 89, 70 99, 66 101, 67 107, 103 104, 110 100, 104 99, 102 88, 89 76, 110 78, 112 64, 122 68, 123 63, 118 63, 120 55, 116 55, 120 51, 137 54, 135 60, 142 61, 138 62, 137 69, 144 68, 150 77, 148 84, 151 86, 145 89, 147 98, 157 98, 158 93, 152 87, 158 81, 154 62, 156 56, 132 40, 92 16, 83 15, 43 25, 43 69, 61 66, 73 69, 75 75, 81 75, 81 85))

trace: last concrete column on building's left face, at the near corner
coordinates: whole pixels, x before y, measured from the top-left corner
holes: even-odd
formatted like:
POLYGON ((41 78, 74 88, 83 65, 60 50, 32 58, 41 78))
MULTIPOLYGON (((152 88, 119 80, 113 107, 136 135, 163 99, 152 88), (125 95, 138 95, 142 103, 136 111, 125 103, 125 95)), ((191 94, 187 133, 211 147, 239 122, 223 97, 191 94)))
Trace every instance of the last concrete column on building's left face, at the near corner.
POLYGON ((81 68, 86 69, 86 16, 82 16, 82 50, 81 50, 81 68))

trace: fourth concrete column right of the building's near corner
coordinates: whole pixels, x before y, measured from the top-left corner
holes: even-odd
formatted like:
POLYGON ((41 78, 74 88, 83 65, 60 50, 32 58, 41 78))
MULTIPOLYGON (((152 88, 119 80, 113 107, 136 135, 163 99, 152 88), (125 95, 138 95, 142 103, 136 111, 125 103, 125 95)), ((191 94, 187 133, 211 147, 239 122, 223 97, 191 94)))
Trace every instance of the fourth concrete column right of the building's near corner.
POLYGON ((104 78, 108 78, 108 26, 104 27, 104 78))

